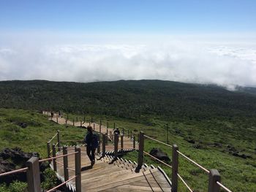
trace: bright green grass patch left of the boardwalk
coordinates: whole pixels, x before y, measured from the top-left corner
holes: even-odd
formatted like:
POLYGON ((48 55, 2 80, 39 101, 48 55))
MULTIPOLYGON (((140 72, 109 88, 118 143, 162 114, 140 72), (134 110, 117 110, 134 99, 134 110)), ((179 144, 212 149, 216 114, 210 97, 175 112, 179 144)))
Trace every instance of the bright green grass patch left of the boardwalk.
POLYGON ((47 156, 46 144, 60 130, 62 138, 83 139, 85 131, 80 128, 68 130, 50 122, 38 112, 0 109, 0 150, 20 147, 25 152, 38 152, 47 156), (22 126, 26 124, 26 128, 22 126))

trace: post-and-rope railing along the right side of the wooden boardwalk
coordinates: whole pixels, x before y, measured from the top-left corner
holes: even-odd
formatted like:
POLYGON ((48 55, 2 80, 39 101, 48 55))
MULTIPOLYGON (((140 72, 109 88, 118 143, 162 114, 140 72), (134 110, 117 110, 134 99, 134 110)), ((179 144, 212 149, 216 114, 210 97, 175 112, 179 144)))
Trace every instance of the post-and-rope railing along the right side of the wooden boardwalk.
MULTIPOLYGON (((48 113, 49 114, 49 113, 48 113)), ((66 118, 66 124, 67 124, 67 120, 68 120, 68 115, 66 118)), ((56 121, 58 122, 58 115, 56 115, 56 121)), ((76 121, 78 121, 78 117, 76 118, 76 121)), ((80 126, 83 125, 83 123, 86 121, 86 118, 83 118, 83 121, 80 120, 80 126)), ((73 126, 75 125, 75 120, 72 120, 73 122, 73 126)), ((91 122, 89 123, 89 125, 91 125, 95 131, 95 123, 93 121, 93 118, 91 118, 91 122)), ((113 141, 113 145, 114 145, 114 159, 116 159, 118 157, 118 141, 121 142, 121 150, 124 149, 124 137, 130 137, 133 140, 133 149, 135 149, 135 137, 137 134, 132 134, 132 131, 129 130, 125 130, 123 127, 119 126, 118 128, 121 128, 121 134, 113 134, 112 131, 109 131, 109 122, 107 121, 106 123, 106 127, 107 127, 107 133, 102 133, 102 120, 99 120, 99 132, 98 134, 102 135, 102 141, 99 140, 99 147, 97 150, 97 153, 100 153, 100 148, 102 147, 102 155, 105 155, 106 153, 106 145, 108 143, 108 139, 110 139, 111 141, 113 141), (127 134, 125 134, 125 131, 127 131, 127 134)), ((113 128, 117 128, 117 124, 113 123, 113 128)), ((58 141, 56 143, 56 145, 58 145, 60 147, 61 145, 61 140, 59 132, 53 137, 55 138, 57 137, 58 141)), ((99 137, 100 138, 100 137, 99 137)), ((168 139, 167 139, 168 140, 168 139)), ((180 174, 178 174, 178 156, 181 155, 183 158, 187 159, 189 162, 191 162, 192 164, 195 164, 195 166, 198 166, 200 169, 202 169, 204 172, 206 172, 208 174, 208 192, 219 192, 220 188, 223 188, 225 191, 227 192, 232 192, 230 191, 230 189, 228 189, 227 187, 225 187, 225 185, 223 185, 222 183, 220 183, 221 177, 219 172, 217 171, 217 169, 206 169, 203 166, 201 166, 200 164, 197 164, 195 161, 193 161, 191 158, 187 157, 187 155, 184 155, 183 153, 181 153, 178 150, 178 146, 177 145, 169 145, 165 142, 161 142, 157 139, 154 139, 152 137, 148 137, 146 136, 143 131, 140 131, 140 134, 138 135, 138 141, 139 141, 139 147, 138 147, 138 167, 136 169, 137 172, 140 171, 141 166, 143 165, 143 156, 148 155, 151 158, 154 158, 154 160, 159 161, 161 164, 165 164, 165 166, 168 166, 170 169, 172 169, 172 177, 171 177, 171 181, 172 181, 172 191, 176 192, 178 191, 178 179, 181 180, 182 183, 184 183, 184 185, 187 187, 187 189, 189 191, 192 191, 192 188, 189 187, 189 185, 186 183, 186 181, 181 177, 180 174), (144 151, 144 139, 151 139, 154 140, 155 142, 159 142, 162 145, 165 145, 167 147, 171 147, 173 152, 172 152, 172 164, 166 164, 164 161, 159 160, 158 158, 154 157, 153 155, 147 153, 146 151, 144 151)), ((51 142, 51 140, 50 140, 51 142)), ((48 151, 50 151, 50 144, 48 144, 48 151)), ((58 148, 59 148, 58 147, 58 148)), ((55 147, 54 147, 55 148, 55 147)), ((52 150, 53 151, 53 150, 52 150)))

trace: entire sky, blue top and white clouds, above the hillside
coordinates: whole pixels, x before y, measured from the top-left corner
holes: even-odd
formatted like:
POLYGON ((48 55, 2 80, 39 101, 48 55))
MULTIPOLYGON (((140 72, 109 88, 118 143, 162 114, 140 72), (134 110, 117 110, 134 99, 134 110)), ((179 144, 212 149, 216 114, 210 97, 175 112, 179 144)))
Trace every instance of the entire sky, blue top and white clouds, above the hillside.
POLYGON ((0 80, 256 87, 256 0, 0 0, 0 80))

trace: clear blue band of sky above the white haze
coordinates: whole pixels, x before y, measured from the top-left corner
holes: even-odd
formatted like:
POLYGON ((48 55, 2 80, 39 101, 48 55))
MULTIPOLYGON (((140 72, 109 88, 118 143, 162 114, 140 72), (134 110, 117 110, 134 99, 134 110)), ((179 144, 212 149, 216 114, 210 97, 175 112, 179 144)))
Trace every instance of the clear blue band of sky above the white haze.
POLYGON ((115 34, 255 33, 254 0, 0 1, 0 30, 115 34))

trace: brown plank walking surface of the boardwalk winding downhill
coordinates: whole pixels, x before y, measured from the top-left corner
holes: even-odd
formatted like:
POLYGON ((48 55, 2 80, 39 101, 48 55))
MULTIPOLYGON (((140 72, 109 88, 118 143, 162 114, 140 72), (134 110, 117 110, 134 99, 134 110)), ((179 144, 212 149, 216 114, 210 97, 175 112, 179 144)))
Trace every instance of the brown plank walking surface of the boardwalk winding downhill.
MULTIPOLYGON (((47 113, 45 112, 45 114, 47 113)), ((53 115, 51 120, 57 123, 56 114, 53 115)), ((58 118, 58 123, 66 124, 66 120, 58 118)), ((67 120, 67 124, 73 125, 73 122, 67 120)), ((74 124, 80 126, 80 122, 74 122, 74 124)), ((82 126, 89 126, 89 123, 83 122, 82 126)), ((99 132, 99 124, 95 123, 94 128, 94 131, 99 132)), ((107 131, 107 127, 102 125, 100 129, 102 134, 108 132, 108 139, 113 139, 110 134, 110 131, 113 133, 113 128, 108 128, 107 131)), ((124 137, 123 139, 124 149, 134 149, 132 138, 124 137)), ((121 149, 121 142, 118 142, 118 149, 121 149)), ((138 142, 135 142, 135 149, 138 149, 138 142)), ((113 144, 106 145, 106 152, 113 150, 113 144)), ((68 147, 68 153, 74 151, 75 147, 68 147)), ((62 155, 61 151, 57 155, 62 155)), ((68 155, 68 166, 69 178, 75 176, 75 155, 68 155)), ((110 155, 102 157, 100 154, 96 155, 96 161, 92 167, 91 161, 86 155, 86 147, 81 147, 82 191, 171 191, 170 180, 161 168, 144 164, 139 172, 135 172, 136 167, 135 162, 122 158, 114 159, 110 155)), ((64 181, 63 158, 57 160, 57 176, 64 181)), ((69 181, 67 186, 75 191, 75 180, 69 181)))

